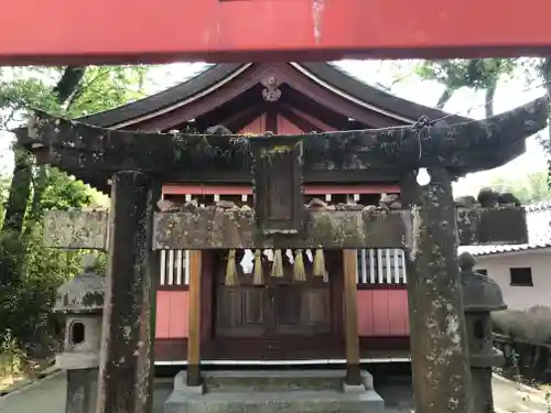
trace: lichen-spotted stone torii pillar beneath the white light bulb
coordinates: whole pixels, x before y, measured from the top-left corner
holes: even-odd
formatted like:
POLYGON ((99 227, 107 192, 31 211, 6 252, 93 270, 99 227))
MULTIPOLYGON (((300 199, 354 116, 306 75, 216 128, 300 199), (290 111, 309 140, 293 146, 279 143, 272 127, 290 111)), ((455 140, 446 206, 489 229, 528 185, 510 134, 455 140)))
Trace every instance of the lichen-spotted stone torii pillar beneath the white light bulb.
POLYGON ((457 231, 451 177, 430 170, 431 182, 402 182, 412 208, 407 251, 411 366, 417 412, 472 412, 465 317, 457 262, 457 231))

